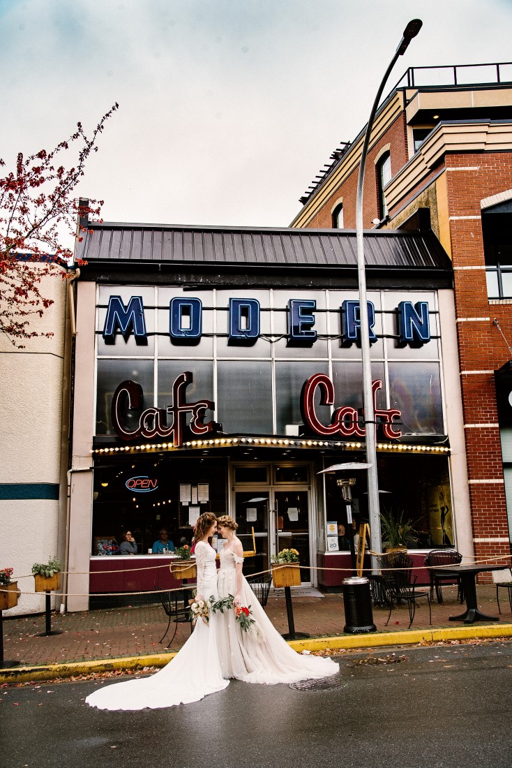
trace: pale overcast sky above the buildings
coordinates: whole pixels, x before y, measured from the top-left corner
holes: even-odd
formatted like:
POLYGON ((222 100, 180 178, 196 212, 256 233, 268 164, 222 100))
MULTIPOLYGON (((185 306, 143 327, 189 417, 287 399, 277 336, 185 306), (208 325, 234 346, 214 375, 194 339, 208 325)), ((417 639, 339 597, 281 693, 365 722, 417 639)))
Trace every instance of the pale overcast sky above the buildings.
POLYGON ((286 227, 406 68, 512 60, 512 0, 0 0, 0 157, 118 101, 81 194, 109 221, 286 227))

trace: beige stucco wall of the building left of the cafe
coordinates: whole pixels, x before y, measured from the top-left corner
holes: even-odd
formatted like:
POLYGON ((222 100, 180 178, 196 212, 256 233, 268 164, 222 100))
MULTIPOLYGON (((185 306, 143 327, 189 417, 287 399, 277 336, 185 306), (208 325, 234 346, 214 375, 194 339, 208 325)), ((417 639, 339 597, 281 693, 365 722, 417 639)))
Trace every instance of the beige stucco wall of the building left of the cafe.
MULTIPOLYGON (((0 518, 4 523, 0 568, 14 568, 14 579, 28 575, 19 579, 18 588, 23 594, 18 606, 6 611, 6 616, 44 610, 45 596, 34 593, 31 566, 48 561, 52 555, 64 558, 65 552, 67 467, 63 467, 63 453, 68 371, 64 361, 68 345, 67 284, 61 279, 63 271, 58 269, 53 276, 42 278, 41 293, 54 300, 54 304, 41 319, 34 316, 30 322, 31 329, 52 332, 54 336, 25 339, 25 349, 16 349, 0 334, 0 485, 61 486, 58 500, 0 498, 0 518)), ((58 604, 58 598, 53 599, 58 604)))

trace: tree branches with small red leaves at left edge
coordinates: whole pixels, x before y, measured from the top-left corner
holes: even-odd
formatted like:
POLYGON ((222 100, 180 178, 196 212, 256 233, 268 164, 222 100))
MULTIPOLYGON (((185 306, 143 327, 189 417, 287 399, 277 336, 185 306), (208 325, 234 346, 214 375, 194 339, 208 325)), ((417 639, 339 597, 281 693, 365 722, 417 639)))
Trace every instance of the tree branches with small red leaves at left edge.
MULTIPOLYGON (((71 263, 73 252, 63 242, 71 242, 70 235, 81 239, 84 230, 77 227, 77 214, 83 220, 99 217, 103 200, 79 204, 73 193, 89 155, 97 152, 97 137, 117 108, 114 104, 104 114, 91 137, 78 123, 74 134, 50 152, 29 157, 20 152, 15 170, 0 178, 0 333, 20 349, 21 339, 52 336, 30 328, 31 319, 53 303, 41 295, 41 279, 68 275, 62 266, 71 263), (75 153, 72 167, 61 164, 68 151, 75 153)), ((5 168, 2 159, 0 167, 5 168)))

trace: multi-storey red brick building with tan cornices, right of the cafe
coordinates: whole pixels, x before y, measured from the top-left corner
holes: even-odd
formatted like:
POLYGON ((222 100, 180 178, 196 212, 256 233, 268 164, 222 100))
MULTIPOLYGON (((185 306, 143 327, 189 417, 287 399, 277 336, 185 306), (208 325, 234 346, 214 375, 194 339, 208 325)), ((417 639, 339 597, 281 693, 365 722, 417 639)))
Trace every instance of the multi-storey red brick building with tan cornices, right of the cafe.
MULTIPOLYGON (((363 138, 333 152, 292 227, 355 227, 363 138)), ((510 151, 511 64, 413 68, 378 110, 365 171, 365 227, 431 228, 453 263, 478 559, 508 554, 512 536, 510 151)))

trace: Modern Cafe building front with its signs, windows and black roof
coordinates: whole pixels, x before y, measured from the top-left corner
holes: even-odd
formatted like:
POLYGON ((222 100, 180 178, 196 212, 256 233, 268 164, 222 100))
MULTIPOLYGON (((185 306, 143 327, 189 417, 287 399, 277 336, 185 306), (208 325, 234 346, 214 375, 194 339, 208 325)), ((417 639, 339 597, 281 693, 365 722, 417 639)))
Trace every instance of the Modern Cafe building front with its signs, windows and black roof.
MULTIPOLYGON (((203 511, 236 518, 247 574, 292 547, 304 584, 338 588, 368 521, 365 472, 323 472, 365 461, 355 233, 87 229, 68 610, 177 586, 150 550, 162 528, 190 542, 203 511), (137 555, 117 554, 127 529, 137 555)), ((381 508, 414 522, 418 564, 471 554, 451 262, 430 231, 367 232, 365 255, 381 508)))

